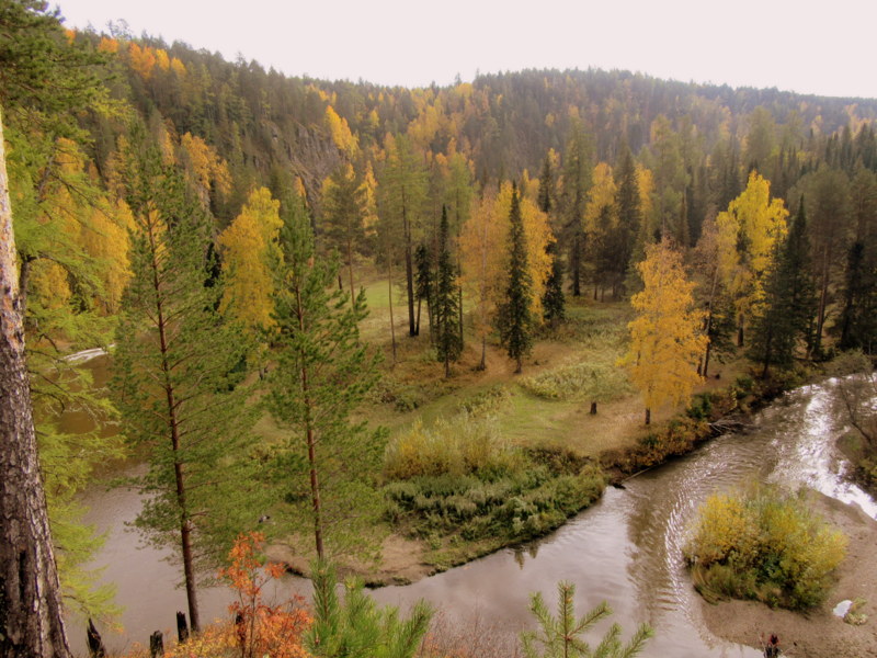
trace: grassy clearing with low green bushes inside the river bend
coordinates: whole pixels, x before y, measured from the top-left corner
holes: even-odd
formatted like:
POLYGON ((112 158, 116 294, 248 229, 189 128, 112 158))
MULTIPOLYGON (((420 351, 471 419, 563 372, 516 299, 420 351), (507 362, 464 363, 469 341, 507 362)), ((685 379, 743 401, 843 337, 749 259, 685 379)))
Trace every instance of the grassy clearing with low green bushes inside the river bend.
MULTIPOLYGON (((538 337, 523 375, 491 342, 480 370, 481 345, 467 327, 464 353, 445 378, 425 309, 421 334, 409 337, 403 291, 395 288, 394 363, 387 281, 374 269, 356 276, 369 307, 362 337, 385 356, 357 420, 389 430, 385 470, 375 474, 385 486, 385 520, 421 542, 434 568, 557 527, 600 496, 600 456, 635 450, 648 435, 639 395, 615 365, 627 344, 627 303, 568 298, 568 321, 538 337)), ((676 411, 653 410, 653 427, 676 411)), ((267 441, 283 434, 267 418, 255 429, 267 441)))

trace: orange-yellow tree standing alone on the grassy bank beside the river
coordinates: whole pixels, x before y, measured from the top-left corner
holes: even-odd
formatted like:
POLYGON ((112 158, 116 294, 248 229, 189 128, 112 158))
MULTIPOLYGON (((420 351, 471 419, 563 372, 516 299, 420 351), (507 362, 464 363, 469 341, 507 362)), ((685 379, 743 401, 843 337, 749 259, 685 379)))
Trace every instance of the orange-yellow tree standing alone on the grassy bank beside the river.
POLYGON ((687 401, 702 381, 697 363, 706 337, 701 333, 704 314, 694 306, 694 283, 668 238, 646 247, 637 270, 645 287, 630 299, 637 317, 627 325, 630 350, 620 364, 642 394, 649 424, 653 408, 687 401))

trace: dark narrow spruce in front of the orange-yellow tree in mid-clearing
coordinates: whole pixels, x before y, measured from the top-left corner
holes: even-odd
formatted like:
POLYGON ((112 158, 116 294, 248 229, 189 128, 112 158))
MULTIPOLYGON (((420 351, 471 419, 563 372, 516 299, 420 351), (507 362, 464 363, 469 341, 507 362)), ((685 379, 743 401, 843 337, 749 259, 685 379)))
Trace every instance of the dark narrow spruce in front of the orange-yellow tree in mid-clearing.
POLYGON ((500 305, 497 319, 500 342, 515 361, 515 374, 523 367, 523 359, 533 347, 534 318, 531 309, 531 281, 527 270, 527 246, 517 186, 512 189, 512 208, 509 213, 509 279, 505 299, 500 305))

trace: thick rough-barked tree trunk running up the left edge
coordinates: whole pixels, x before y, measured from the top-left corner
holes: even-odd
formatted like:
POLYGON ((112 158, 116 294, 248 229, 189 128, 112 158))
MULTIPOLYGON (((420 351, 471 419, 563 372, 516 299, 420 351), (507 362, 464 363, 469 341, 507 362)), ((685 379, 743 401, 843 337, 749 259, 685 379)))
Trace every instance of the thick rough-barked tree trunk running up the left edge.
POLYGON ((0 657, 68 658, 19 293, 0 118, 0 657))

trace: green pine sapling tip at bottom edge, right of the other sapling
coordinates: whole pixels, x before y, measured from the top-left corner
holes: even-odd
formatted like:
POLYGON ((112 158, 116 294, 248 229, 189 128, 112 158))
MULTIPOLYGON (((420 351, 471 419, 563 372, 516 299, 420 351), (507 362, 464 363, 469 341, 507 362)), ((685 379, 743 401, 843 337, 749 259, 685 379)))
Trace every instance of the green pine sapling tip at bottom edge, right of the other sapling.
POLYGON ((596 608, 576 619, 576 586, 557 583, 557 616, 554 616, 539 592, 531 595, 529 610, 539 624, 539 629, 521 634, 525 658, 634 658, 654 635, 648 624, 641 624, 626 645, 622 644, 622 627, 613 624, 593 649, 582 638, 591 627, 612 614, 603 601, 596 608))

